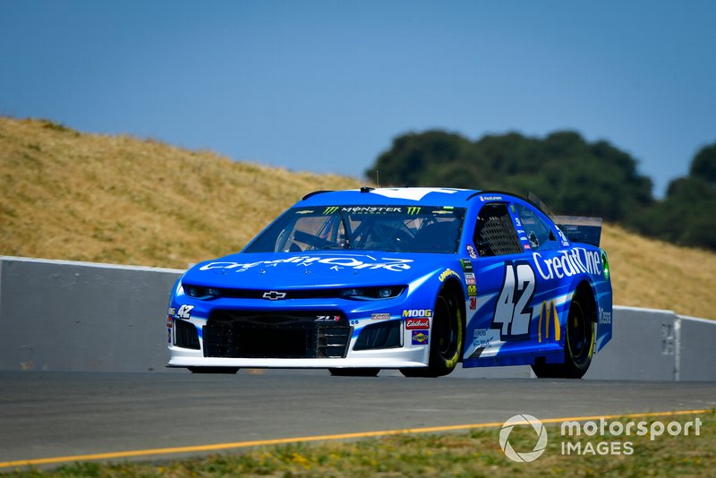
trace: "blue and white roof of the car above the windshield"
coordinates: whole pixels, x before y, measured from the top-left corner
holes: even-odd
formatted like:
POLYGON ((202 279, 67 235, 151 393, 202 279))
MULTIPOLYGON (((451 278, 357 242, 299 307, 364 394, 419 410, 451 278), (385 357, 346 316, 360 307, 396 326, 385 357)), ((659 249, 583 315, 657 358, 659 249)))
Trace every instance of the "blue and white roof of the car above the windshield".
MULTIPOLYGON (((331 205, 405 205, 421 204, 422 206, 453 206, 465 208, 467 200, 480 194, 474 189, 456 188, 367 188, 347 191, 317 191, 307 194, 297 207, 331 206, 331 205)), ((507 194, 506 194, 507 195, 507 194)))

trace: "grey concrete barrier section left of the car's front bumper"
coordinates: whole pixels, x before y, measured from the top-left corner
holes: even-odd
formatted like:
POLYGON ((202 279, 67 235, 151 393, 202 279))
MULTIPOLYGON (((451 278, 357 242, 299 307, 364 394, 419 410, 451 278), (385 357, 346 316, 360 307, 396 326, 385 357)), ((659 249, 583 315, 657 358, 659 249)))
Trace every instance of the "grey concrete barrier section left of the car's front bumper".
POLYGON ((182 272, 0 257, 0 369, 165 371, 182 272))

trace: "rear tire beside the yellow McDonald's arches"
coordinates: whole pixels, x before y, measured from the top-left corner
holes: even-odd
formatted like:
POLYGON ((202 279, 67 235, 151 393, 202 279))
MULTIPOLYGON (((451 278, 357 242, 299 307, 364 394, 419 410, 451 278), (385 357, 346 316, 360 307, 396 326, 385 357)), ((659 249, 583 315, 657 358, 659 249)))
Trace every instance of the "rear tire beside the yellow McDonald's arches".
POLYGON ((540 379, 581 379, 594 354, 596 323, 592 301, 587 294, 575 293, 567 314, 565 363, 534 363, 532 370, 540 379))

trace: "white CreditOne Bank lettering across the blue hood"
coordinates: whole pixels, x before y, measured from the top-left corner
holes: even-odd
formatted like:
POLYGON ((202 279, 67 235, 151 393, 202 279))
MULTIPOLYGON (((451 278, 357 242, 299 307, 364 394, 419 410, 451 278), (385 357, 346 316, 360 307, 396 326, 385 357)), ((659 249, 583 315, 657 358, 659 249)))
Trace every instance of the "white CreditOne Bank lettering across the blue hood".
POLYGON ((287 259, 277 260, 259 260, 256 262, 209 262, 204 266, 200 267, 200 270, 211 270, 211 269, 224 269, 234 270, 234 272, 245 272, 251 268, 257 266, 269 268, 278 267, 283 265, 294 265, 294 266, 305 266, 310 267, 313 264, 324 264, 332 266, 331 269, 338 268, 353 268, 353 269, 383 269, 390 270, 391 272, 402 272, 403 270, 410 269, 410 264, 413 262, 412 259, 388 259, 381 258, 375 259, 371 256, 339 256, 339 257, 310 257, 310 256, 297 256, 289 257, 287 259), (359 259, 360 258, 360 259, 359 259))

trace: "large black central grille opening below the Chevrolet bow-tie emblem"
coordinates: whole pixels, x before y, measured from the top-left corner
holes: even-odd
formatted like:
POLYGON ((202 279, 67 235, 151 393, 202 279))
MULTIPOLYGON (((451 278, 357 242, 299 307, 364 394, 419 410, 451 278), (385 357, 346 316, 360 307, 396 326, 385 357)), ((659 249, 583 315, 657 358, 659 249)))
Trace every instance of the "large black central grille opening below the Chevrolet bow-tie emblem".
POLYGON ((344 358, 352 331, 340 312, 217 311, 202 329, 204 356, 344 358))

